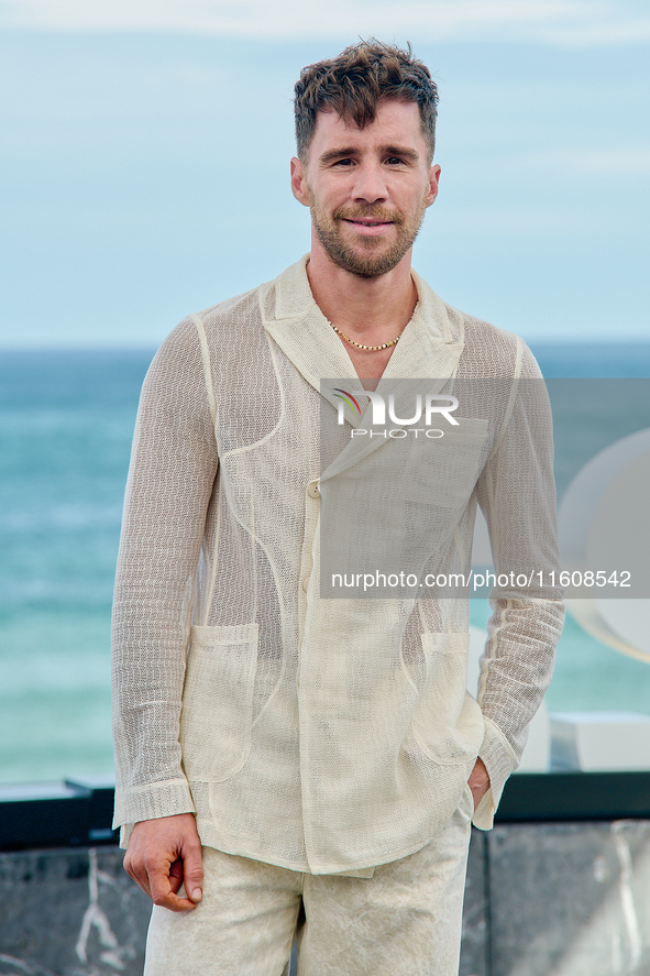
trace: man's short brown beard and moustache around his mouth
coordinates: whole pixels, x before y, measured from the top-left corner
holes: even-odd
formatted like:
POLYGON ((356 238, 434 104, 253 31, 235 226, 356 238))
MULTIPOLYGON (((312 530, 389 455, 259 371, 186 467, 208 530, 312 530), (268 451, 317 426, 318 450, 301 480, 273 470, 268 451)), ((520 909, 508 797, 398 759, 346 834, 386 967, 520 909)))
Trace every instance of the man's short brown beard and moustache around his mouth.
POLYGON ((412 246, 425 217, 425 198, 419 209, 410 217, 404 217, 398 210, 389 210, 378 204, 367 207, 339 207, 329 217, 316 202, 310 191, 311 220, 328 256, 338 266, 362 278, 374 278, 386 274, 399 264, 409 248, 412 246), (397 228, 397 238, 387 244, 381 238, 359 235, 355 245, 343 239, 341 221, 356 220, 361 217, 373 220, 388 221, 397 228))

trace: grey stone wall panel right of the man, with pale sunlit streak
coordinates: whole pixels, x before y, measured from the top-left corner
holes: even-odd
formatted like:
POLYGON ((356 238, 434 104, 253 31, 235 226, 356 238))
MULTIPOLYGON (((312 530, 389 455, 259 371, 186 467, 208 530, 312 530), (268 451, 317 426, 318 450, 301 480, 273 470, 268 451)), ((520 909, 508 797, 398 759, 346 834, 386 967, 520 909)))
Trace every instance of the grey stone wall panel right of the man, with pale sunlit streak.
POLYGON ((487 976, 648 976, 650 821, 513 824, 485 843, 487 976))

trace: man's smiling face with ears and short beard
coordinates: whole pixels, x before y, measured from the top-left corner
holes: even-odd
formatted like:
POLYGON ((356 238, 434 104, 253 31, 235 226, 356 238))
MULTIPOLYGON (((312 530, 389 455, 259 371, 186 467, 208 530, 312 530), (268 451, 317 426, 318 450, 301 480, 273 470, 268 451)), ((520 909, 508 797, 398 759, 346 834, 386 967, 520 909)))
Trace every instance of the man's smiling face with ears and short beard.
POLYGON ((438 194, 439 166, 415 102, 385 99, 364 129, 319 112, 307 165, 291 161, 291 188, 311 209, 312 253, 344 271, 376 277, 408 253, 438 194))

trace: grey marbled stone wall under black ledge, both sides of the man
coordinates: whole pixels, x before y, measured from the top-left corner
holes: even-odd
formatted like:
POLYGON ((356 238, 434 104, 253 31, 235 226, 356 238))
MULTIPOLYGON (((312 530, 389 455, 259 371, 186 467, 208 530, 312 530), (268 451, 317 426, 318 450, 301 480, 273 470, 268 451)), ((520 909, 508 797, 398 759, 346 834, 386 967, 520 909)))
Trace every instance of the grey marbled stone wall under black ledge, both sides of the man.
MULTIPOLYGON (((151 906, 122 857, 1 854, 0 976, 140 976, 151 906)), ((460 976, 614 973, 650 973, 650 820, 475 831, 460 976)))

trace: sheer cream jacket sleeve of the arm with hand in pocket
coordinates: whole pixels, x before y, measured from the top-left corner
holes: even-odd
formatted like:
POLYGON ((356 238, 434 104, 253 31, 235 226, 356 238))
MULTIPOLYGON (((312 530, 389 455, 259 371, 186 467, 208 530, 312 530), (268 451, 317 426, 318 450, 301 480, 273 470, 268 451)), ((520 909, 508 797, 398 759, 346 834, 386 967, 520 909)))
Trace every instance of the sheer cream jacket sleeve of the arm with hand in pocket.
POLYGON ((492 788, 478 805, 474 823, 484 830, 492 826, 506 779, 521 758, 528 724, 551 680, 564 621, 557 585, 550 404, 532 354, 526 347, 520 347, 519 353, 522 358, 511 406, 478 481, 478 503, 486 517, 497 578, 491 593, 493 613, 478 684, 485 720, 480 756, 492 788), (553 571, 555 586, 551 585, 553 571))

